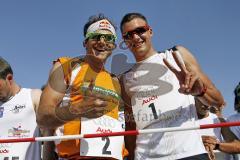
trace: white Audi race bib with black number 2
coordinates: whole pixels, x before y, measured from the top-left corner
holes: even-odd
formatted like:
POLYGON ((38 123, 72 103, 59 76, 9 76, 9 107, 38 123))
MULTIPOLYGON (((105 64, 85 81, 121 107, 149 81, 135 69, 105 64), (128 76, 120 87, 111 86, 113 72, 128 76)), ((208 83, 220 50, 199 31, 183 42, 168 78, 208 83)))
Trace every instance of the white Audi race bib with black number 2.
MULTIPOLYGON (((123 131, 121 123, 109 116, 96 119, 81 118, 81 134, 123 131)), ((122 160, 123 136, 81 139, 80 155, 112 157, 122 160)))

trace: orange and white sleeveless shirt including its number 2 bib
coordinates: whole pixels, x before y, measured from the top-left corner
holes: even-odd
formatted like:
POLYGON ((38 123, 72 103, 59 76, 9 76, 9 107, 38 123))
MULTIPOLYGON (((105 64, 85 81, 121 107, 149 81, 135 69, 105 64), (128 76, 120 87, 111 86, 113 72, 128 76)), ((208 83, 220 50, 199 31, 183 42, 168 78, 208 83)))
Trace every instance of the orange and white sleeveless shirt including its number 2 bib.
MULTIPOLYGON (((108 105, 104 115, 99 118, 81 118, 67 122, 56 130, 56 135, 75 135, 88 133, 109 133, 123 131, 122 124, 118 121, 120 102, 120 85, 116 79, 105 70, 95 72, 88 63, 79 58, 59 58, 62 64, 64 78, 69 86, 62 101, 62 106, 83 100, 84 92, 89 84, 94 81, 92 91, 107 97, 108 105), (77 93, 77 94, 76 94, 77 93)), ((82 140, 67 140, 57 142, 57 152, 62 158, 88 159, 98 157, 101 159, 122 159, 124 138, 106 137, 82 140)), ((125 153, 125 152, 123 152, 125 153)))

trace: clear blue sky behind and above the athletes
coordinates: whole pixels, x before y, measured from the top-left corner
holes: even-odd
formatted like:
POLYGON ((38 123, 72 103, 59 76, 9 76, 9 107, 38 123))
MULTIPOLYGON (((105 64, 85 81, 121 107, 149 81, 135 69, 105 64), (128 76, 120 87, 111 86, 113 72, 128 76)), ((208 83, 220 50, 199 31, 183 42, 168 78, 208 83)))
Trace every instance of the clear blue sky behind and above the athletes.
MULTIPOLYGON (((239 6, 238 0, 1 0, 0 56, 12 65, 19 84, 40 88, 54 59, 85 54, 82 30, 89 16, 104 13, 119 26, 126 13, 140 12, 153 28, 156 50, 178 44, 194 54, 222 92, 228 116, 240 81, 239 6)), ((134 62, 128 50, 117 48, 117 54, 134 62)), ((106 66, 110 70, 111 58, 106 66)))

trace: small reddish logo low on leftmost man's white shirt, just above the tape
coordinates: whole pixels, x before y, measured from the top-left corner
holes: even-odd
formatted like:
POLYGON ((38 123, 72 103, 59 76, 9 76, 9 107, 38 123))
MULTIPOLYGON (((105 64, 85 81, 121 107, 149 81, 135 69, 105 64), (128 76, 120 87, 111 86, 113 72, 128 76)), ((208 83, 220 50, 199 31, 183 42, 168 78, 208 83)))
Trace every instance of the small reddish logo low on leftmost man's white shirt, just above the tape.
POLYGON ((29 137, 30 130, 22 129, 21 126, 12 127, 8 130, 8 137, 29 137))

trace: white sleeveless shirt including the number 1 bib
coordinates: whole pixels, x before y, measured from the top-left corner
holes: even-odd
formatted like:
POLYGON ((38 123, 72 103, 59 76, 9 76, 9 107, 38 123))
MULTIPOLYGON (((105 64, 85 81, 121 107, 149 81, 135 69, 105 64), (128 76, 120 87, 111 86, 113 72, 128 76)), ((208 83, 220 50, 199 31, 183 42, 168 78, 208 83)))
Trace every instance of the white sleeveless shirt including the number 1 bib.
MULTIPOLYGON (((179 82, 165 66, 164 57, 179 69, 172 50, 167 50, 136 63, 123 75, 137 129, 198 125, 194 98, 178 92, 179 82)), ((198 130, 153 133, 137 136, 135 159, 172 160, 203 153, 198 130)))

